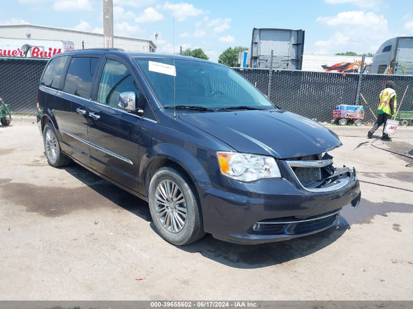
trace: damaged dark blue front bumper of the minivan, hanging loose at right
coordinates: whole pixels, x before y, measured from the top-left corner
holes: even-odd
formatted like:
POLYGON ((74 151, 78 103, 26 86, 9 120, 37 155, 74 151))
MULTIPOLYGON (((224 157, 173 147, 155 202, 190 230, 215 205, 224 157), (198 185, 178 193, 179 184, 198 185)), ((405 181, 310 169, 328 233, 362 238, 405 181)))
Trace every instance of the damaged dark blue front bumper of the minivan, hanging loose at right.
POLYGON ((341 207, 358 206, 360 186, 354 168, 323 164, 329 176, 310 186, 304 186, 291 173, 286 161, 280 161, 282 179, 246 184, 225 178, 225 190, 202 187, 205 231, 229 242, 260 244, 302 237, 334 226, 341 207))

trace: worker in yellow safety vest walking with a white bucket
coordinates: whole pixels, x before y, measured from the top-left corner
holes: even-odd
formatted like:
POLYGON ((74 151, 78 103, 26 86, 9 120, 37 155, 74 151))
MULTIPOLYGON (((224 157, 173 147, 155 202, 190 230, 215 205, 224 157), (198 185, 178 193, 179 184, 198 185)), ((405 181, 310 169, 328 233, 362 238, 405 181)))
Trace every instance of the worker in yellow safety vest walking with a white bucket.
POLYGON ((371 139, 373 133, 377 128, 383 124, 383 136, 381 139, 383 141, 391 141, 391 137, 389 134, 384 134, 384 128, 386 127, 386 122, 389 117, 394 115, 394 111, 396 110, 396 84, 392 81, 386 82, 386 88, 380 92, 379 95, 379 106, 378 106, 378 116, 377 121, 374 123, 373 127, 370 129, 369 133, 367 133, 367 137, 371 139))

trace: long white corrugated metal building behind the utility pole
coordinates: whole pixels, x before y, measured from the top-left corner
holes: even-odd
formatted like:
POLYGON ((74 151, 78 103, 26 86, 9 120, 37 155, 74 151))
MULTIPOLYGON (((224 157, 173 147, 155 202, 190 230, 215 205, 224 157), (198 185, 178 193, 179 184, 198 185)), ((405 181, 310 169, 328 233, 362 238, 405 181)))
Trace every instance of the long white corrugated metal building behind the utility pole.
MULTIPOLYGON (((0 37, 72 41, 75 49, 82 49, 82 41, 85 48, 104 47, 103 34, 32 24, 0 25, 0 37)), ((121 36, 113 36, 113 47, 151 53, 156 49, 151 40, 121 36)))

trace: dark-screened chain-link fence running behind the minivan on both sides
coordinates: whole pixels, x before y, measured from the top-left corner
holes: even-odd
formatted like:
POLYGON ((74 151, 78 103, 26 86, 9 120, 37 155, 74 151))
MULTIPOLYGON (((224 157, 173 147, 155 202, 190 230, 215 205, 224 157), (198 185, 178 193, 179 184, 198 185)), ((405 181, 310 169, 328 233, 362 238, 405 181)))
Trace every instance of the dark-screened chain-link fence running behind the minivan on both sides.
MULTIPOLYGON (((0 96, 11 104, 15 114, 36 113, 36 92, 46 63, 45 60, 0 59, 0 96)), ((413 110, 413 76, 367 74, 360 77, 356 73, 233 69, 277 106, 321 122, 332 119, 332 110, 338 104, 365 105, 364 121, 373 122, 378 95, 388 80, 396 83, 398 104, 409 85, 401 110, 413 110), (360 93, 373 113, 361 96, 356 102, 360 78, 360 93)))

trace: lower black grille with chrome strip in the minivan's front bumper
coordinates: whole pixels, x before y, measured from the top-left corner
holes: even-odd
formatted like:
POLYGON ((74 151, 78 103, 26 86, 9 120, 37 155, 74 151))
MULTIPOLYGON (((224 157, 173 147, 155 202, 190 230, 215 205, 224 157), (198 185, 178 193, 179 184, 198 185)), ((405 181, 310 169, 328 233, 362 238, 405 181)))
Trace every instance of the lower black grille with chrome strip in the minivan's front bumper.
POLYGON ((337 216, 339 216, 338 212, 340 209, 326 212, 310 219, 304 219, 305 221, 295 217, 262 220, 259 222, 260 228, 257 231, 250 228, 248 233, 259 235, 300 235, 315 232, 332 226, 337 216))

